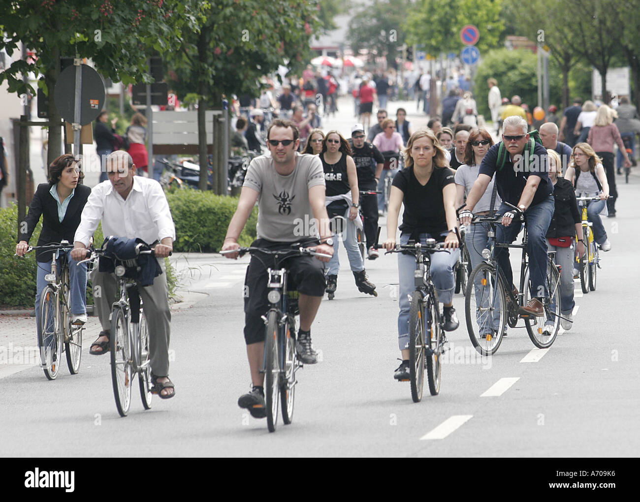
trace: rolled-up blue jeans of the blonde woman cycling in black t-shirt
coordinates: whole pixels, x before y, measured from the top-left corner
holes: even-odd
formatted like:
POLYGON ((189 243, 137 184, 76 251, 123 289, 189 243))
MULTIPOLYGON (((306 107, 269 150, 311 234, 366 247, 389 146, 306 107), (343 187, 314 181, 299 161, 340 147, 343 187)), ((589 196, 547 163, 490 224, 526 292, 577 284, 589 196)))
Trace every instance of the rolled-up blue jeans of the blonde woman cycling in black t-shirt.
MULTIPOLYGON (((442 235, 447 235, 443 233, 442 235)), ((400 244, 409 242, 410 235, 403 233, 400 235, 400 244)), ((437 237, 426 233, 420 234, 420 242, 426 244, 428 237, 437 237)), ((438 293, 438 301, 442 303, 451 303, 453 301, 453 292, 456 288, 456 278, 454 269, 458 262, 460 249, 449 251, 438 251, 431 253, 431 280, 438 293)), ((409 348, 409 311, 411 305, 408 295, 415 291, 415 282, 413 280, 413 271, 415 271, 415 256, 403 255, 398 253, 398 278, 399 278, 399 298, 400 313, 398 315, 398 347, 400 350, 409 348)))

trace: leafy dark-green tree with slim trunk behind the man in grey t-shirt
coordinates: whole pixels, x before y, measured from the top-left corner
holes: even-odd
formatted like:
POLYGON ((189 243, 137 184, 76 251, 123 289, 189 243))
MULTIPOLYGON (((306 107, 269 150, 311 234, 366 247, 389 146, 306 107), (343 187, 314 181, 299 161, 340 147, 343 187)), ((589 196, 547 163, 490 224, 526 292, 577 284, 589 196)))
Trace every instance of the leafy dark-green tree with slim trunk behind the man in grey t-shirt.
MULTIPOLYGON (((200 32, 169 56, 179 93, 197 93, 200 165, 207 165, 204 111, 234 93, 257 96, 260 77, 279 65, 292 73, 310 57, 309 40, 321 29, 319 0, 214 0, 200 32)), ((220 166, 223 168, 223 166, 220 166)), ((226 166, 224 166, 226 168, 226 166)), ((205 169, 200 188, 206 187, 205 169)))

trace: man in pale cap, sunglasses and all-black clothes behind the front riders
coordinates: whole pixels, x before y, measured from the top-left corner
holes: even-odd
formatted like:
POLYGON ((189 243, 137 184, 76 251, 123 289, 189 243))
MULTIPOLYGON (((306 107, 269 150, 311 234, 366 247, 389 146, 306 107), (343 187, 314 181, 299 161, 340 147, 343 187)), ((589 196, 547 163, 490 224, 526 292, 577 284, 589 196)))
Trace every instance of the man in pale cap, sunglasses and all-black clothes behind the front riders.
MULTIPOLYGON (((364 139, 364 125, 356 124, 351 127, 351 157, 356 164, 358 173, 358 188, 362 191, 375 192, 380 181, 385 157, 380 150, 364 139)), ((360 210, 364 218, 364 235, 367 239, 367 255, 369 260, 380 256, 373 245, 376 243, 378 232, 378 197, 375 194, 363 195, 360 198, 360 210)))

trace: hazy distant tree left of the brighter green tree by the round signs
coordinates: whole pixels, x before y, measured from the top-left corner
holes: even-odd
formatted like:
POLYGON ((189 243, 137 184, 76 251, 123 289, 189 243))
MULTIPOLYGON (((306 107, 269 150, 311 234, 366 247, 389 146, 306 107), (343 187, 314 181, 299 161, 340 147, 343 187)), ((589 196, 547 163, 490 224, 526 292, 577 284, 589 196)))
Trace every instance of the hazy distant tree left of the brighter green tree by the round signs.
POLYGON ((362 6, 349 22, 351 49, 361 49, 387 58, 387 66, 396 68, 397 49, 404 44, 404 19, 411 6, 409 0, 374 0, 362 6))

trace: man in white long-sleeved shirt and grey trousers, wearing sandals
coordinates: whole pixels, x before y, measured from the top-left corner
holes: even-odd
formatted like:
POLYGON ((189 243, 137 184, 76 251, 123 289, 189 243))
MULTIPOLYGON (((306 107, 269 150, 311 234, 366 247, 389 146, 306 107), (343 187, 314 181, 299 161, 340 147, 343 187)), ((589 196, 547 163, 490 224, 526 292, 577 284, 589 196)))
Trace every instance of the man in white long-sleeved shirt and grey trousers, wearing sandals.
MULTIPOLYGON (((175 226, 160 184, 156 180, 134 176, 136 166, 131 155, 124 150, 109 154, 106 169, 109 179, 93 188, 92 195, 84 206, 71 256, 74 260, 82 260, 85 257, 90 237, 100 221, 104 235, 129 239, 137 237, 148 244, 160 240, 161 243, 154 249, 156 258, 169 256, 173 250, 175 226)), ((153 392, 163 399, 168 399, 175 395, 173 383, 168 378, 171 313, 164 260, 159 260, 159 265, 163 273, 157 276, 150 286, 138 285, 138 291, 149 327, 153 392)), ((94 269, 92 280, 93 288, 97 292, 94 294, 94 301, 102 331, 92 344, 90 354, 98 355, 109 352, 109 314, 111 303, 115 301, 116 278, 114 274, 94 269)))

